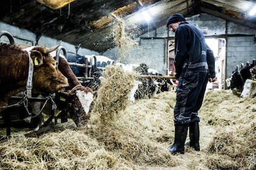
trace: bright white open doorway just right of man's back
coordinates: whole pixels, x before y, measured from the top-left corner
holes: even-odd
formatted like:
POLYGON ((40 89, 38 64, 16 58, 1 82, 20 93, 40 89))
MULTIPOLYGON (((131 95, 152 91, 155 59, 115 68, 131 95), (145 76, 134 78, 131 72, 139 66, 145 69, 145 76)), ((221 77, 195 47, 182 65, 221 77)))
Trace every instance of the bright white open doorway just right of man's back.
POLYGON ((207 89, 225 89, 226 75, 226 39, 205 38, 215 56, 215 71, 217 81, 208 83, 207 89))

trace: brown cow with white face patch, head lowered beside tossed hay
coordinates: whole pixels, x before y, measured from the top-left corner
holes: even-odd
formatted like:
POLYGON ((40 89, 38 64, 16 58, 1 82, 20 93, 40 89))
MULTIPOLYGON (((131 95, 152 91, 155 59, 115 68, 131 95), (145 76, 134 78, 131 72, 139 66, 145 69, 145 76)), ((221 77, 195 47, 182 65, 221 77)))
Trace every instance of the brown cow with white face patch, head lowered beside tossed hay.
MULTIPOLYGON (((51 52, 51 55, 54 56, 56 53, 51 52)), ((61 123, 67 121, 67 112, 69 112, 77 126, 86 124, 90 118, 89 110, 93 100, 93 91, 90 87, 84 87, 80 84, 69 63, 62 55, 59 57, 58 68, 69 82, 69 86, 65 87, 65 92, 58 92, 55 97, 58 110, 61 111, 61 123)), ((32 102, 32 115, 38 115, 42 105, 42 102, 32 102)), ((43 125, 42 121, 43 117, 41 115, 32 119, 35 131, 43 125)))

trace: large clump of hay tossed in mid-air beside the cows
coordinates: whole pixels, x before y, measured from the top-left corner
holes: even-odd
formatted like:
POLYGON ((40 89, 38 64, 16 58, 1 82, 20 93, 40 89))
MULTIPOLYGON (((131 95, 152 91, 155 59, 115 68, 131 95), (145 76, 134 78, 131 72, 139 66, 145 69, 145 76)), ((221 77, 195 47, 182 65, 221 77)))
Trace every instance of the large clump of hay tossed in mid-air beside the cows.
POLYGON ((115 120, 120 110, 126 108, 135 75, 116 65, 109 65, 103 76, 92 114, 99 115, 100 124, 106 126, 115 120))

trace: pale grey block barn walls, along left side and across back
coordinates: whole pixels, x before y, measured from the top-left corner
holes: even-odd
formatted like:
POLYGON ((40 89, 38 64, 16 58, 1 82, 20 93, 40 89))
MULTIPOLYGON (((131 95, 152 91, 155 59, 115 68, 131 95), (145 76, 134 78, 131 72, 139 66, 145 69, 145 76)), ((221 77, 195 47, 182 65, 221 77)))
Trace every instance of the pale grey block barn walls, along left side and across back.
MULTIPOLYGON (((226 78, 231 76, 236 65, 245 64, 247 61, 252 62, 256 58, 255 29, 233 22, 227 22, 226 20, 208 14, 194 15, 186 19, 189 23, 203 30, 205 36, 226 38, 226 78)), ((153 20, 148 22, 148 26, 153 26, 153 20)), ((1 30, 9 31, 14 36, 16 44, 36 45, 35 33, 3 22, 0 22, 1 30)), ((125 62, 127 63, 146 63, 148 67, 158 70, 161 74, 165 75, 168 69, 167 47, 169 38, 174 38, 174 33, 168 31, 165 25, 151 31, 145 30, 144 34, 138 39, 135 39, 138 45, 131 49, 126 49, 124 54, 122 54, 122 59, 126 59, 125 62)), ((1 42, 9 41, 6 37, 2 37, 1 42)), ((50 47, 58 42, 59 40, 57 39, 41 36, 38 45, 50 47)), ((67 51, 71 52, 75 52, 75 45, 63 41, 61 43, 61 46, 66 47, 67 51)), ((105 55, 114 60, 121 58, 119 49, 116 47, 102 54, 83 48, 80 48, 78 53, 81 55, 105 55)))

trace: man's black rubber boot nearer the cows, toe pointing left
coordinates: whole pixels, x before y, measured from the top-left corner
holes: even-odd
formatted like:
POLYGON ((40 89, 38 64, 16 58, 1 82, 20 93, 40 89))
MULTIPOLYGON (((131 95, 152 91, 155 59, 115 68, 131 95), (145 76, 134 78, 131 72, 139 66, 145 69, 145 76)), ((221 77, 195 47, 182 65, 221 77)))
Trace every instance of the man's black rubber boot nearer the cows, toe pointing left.
POLYGON ((168 150, 171 154, 185 153, 185 141, 187 137, 188 124, 182 124, 175 126, 174 144, 171 145, 168 150))

